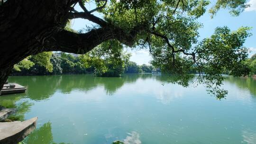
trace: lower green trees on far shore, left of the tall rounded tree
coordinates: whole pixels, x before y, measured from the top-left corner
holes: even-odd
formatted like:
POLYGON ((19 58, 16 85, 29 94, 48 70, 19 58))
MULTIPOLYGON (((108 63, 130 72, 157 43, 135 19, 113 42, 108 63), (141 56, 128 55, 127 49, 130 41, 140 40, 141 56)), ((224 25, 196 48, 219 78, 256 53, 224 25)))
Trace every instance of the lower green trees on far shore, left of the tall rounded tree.
MULTIPOLYGON (((32 55, 14 65, 14 75, 49 75, 62 73, 87 73, 79 57, 62 53, 52 56, 52 52, 32 55)), ((91 72, 93 70, 89 70, 91 72)))

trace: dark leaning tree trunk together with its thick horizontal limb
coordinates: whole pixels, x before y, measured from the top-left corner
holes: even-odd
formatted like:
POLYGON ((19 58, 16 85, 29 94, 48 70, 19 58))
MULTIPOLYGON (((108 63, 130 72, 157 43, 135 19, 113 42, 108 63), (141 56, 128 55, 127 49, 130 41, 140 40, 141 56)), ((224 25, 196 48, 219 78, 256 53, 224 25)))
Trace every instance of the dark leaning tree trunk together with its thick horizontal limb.
POLYGON ((0 6, 0 88, 15 63, 44 51, 85 54, 109 39, 132 45, 144 25, 123 31, 88 11, 73 13, 78 0, 7 0, 0 6), (64 30, 68 18, 100 25, 84 34, 64 30))

